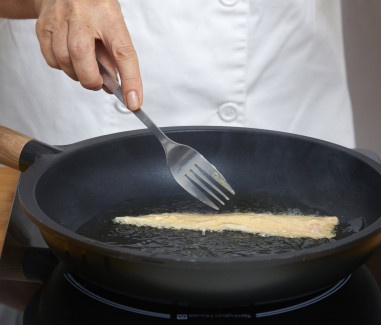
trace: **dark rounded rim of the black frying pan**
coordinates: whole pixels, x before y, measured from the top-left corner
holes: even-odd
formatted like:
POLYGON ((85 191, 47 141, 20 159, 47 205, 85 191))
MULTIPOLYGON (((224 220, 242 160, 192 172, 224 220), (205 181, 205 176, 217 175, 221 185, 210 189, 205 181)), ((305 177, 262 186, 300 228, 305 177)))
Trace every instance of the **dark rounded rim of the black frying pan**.
MULTIPOLYGON (((373 161, 371 158, 366 157, 362 153, 356 152, 353 149, 349 149, 334 143, 330 143, 324 140, 315 139, 311 137, 290 134, 286 132, 271 131, 271 130, 261 130, 254 128, 240 128, 240 127, 223 127, 223 126, 180 126, 180 127, 168 127, 163 128, 165 132, 168 133, 177 133, 177 132, 199 132, 199 131, 230 131, 230 132, 259 132, 259 133, 271 133, 279 135, 287 135, 291 138, 298 139, 309 139, 313 140, 315 143, 318 142, 322 145, 332 147, 334 149, 340 149, 341 151, 346 152, 347 154, 361 160, 362 162, 369 165, 372 169, 376 170, 381 175, 381 165, 373 161)), ((68 155, 71 152, 75 152, 78 149, 89 146, 92 144, 97 144, 106 140, 114 140, 124 137, 137 137, 148 135, 150 132, 146 129, 125 131, 120 133, 114 133, 105 136, 99 136, 96 138, 87 139, 80 141, 71 145, 59 146, 60 148, 66 149, 62 153, 55 155, 46 155, 42 156, 41 159, 29 167, 29 169, 24 172, 20 177, 18 196, 22 209, 26 215, 35 223, 40 229, 45 231, 53 232, 56 236, 61 237, 62 239, 70 239, 71 242, 76 243, 78 246, 86 246, 86 249, 91 250, 96 253, 102 253, 111 255, 118 258, 140 258, 145 260, 160 260, 165 263, 202 263, 202 264, 226 264, 234 262, 235 264, 242 263, 253 263, 253 262, 268 262, 275 264, 285 264, 293 263, 295 261, 304 261, 320 258, 321 256, 334 255, 339 252, 349 250, 359 243, 370 240, 371 237, 375 237, 381 233, 381 217, 374 221, 372 224, 368 225, 365 229, 359 231, 358 233, 351 234, 345 238, 337 240, 335 242, 330 242, 322 244, 312 248, 302 249, 300 251, 285 252, 274 255, 255 255, 255 256, 246 256, 246 257, 188 257, 188 256, 173 256, 173 255, 164 255, 164 254, 153 254, 148 252, 142 252, 126 247, 118 247, 105 242, 97 241, 89 237, 80 235, 75 231, 71 231, 59 223, 52 220, 47 216, 44 211, 39 207, 35 197, 35 187, 37 186, 40 176, 44 174, 46 170, 52 167, 55 163, 58 163, 62 155, 68 155), (34 173, 35 170, 39 167, 39 171, 34 173), (42 168, 41 168, 42 167, 42 168), (28 193, 33 193, 33 195, 28 195, 28 193), (40 217, 35 217, 40 216, 40 217)), ((379 242, 379 241, 378 241, 379 242)))

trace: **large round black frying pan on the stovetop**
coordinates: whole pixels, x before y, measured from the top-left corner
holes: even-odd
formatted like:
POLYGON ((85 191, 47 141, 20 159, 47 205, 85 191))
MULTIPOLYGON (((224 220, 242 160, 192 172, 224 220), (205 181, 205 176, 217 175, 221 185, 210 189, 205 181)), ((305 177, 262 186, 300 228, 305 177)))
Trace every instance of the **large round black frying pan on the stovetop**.
MULTIPOLYGON (((155 206, 171 211, 173 202, 185 202, 185 210, 210 209, 197 205, 172 179, 161 146, 148 131, 59 148, 24 139, 27 144, 18 146, 21 153, 15 155, 20 156, 18 168, 27 168, 19 186, 21 205, 72 272, 110 290, 162 303, 262 304, 332 285, 362 265, 380 242, 381 166, 369 158, 279 132, 224 127, 166 132, 201 152, 232 185, 236 196, 221 212, 250 206, 268 212, 297 209, 335 215, 344 230, 357 228, 317 246, 252 256, 187 256, 158 252, 144 243, 141 249, 105 243, 77 231, 102 216, 123 214, 131 205, 145 213, 155 206)), ((8 164, 16 167, 15 159, 8 164)), ((224 243, 227 236, 234 242, 237 234, 222 236, 224 243)))

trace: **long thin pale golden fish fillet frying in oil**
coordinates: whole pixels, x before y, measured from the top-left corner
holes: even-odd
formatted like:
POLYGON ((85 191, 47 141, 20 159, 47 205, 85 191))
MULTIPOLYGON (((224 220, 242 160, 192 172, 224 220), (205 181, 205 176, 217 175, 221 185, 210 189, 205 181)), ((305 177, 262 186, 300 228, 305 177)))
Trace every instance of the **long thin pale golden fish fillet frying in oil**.
POLYGON ((272 215, 254 213, 192 214, 163 213, 140 217, 117 217, 115 222, 135 226, 199 231, 234 230, 289 238, 332 238, 336 217, 272 215))

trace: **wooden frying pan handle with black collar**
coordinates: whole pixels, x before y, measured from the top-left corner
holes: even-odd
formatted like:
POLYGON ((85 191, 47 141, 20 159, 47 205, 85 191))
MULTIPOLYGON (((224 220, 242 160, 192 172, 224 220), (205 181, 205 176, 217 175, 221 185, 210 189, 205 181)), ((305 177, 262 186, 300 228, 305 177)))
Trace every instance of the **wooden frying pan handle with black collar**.
POLYGON ((61 151, 0 124, 0 164, 23 172, 40 155, 61 151))

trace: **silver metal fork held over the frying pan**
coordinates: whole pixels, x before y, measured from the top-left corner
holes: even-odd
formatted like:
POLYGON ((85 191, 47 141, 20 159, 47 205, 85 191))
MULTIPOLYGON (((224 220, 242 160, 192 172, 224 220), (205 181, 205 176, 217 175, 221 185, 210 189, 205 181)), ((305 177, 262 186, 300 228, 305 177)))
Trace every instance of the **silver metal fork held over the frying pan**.
MULTIPOLYGON (((118 81, 98 61, 103 84, 124 104, 122 89, 118 81)), ((169 139, 143 112, 141 108, 133 113, 155 134, 161 142, 167 158, 167 166, 174 177, 188 193, 208 206, 219 210, 217 202, 224 205, 229 200, 225 189, 235 194, 221 173, 193 148, 169 139), (214 200, 214 202, 213 202, 214 200)))

